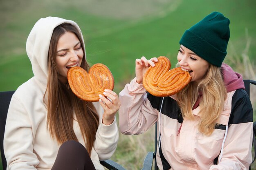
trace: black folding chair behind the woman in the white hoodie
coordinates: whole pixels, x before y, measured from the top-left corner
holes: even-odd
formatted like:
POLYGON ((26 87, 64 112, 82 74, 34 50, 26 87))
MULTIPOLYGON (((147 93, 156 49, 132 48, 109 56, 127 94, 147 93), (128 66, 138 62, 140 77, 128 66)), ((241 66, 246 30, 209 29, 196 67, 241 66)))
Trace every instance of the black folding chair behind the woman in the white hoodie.
MULTIPOLYGON (((4 129, 6 123, 7 112, 9 108, 9 104, 11 101, 11 97, 15 91, 6 91, 0 92, 0 149, 1 149, 1 157, 2 157, 2 167, 3 170, 6 170, 7 163, 4 156, 4 129)), ((126 170, 124 167, 119 165, 118 163, 108 159, 106 161, 100 161, 100 163, 106 167, 108 170, 126 170)))

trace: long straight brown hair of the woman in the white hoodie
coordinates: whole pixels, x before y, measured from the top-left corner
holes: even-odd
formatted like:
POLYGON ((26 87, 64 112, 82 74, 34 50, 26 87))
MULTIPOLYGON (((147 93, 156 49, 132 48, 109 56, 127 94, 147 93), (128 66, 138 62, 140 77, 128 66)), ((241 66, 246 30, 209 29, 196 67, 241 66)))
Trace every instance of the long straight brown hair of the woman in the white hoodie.
MULTIPOLYGON (((84 46, 79 30, 72 24, 61 24, 52 33, 48 53, 47 89, 43 98, 47 106, 47 128, 58 144, 63 144, 68 140, 78 141, 73 129, 75 116, 75 121, 78 121, 83 135, 85 147, 90 154, 99 126, 99 116, 92 102, 85 102, 76 97, 70 90, 68 83, 63 84, 58 79, 56 67, 57 44, 59 38, 65 32, 74 33, 81 42, 81 46, 84 46)), ((85 60, 85 50, 82 49, 84 56, 81 67, 88 71, 89 66, 85 60)))

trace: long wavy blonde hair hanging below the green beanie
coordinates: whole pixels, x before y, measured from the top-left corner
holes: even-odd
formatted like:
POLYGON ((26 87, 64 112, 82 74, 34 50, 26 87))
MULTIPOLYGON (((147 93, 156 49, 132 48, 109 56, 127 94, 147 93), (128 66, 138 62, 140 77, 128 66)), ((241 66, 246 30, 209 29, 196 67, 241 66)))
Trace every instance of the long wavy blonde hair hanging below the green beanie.
POLYGON ((207 74, 199 84, 190 82, 188 86, 177 93, 177 102, 183 117, 194 119, 192 108, 199 97, 199 91, 202 92, 202 98, 200 99, 198 129, 204 135, 211 135, 217 124, 216 121, 222 113, 227 96, 221 68, 210 64, 207 74))

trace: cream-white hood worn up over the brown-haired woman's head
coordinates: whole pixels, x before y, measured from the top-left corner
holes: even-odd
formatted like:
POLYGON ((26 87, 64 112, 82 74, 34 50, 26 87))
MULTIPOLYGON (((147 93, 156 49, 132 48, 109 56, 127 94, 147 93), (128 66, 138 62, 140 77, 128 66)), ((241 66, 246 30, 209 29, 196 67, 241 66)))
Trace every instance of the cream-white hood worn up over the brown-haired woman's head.
MULTIPOLYGON (((47 17, 38 20, 27 38, 26 50, 32 65, 34 77, 45 86, 47 85, 48 51, 52 32, 56 26, 63 23, 74 25, 80 31, 83 40, 81 29, 76 22, 58 17, 47 17)), ((83 48, 85 49, 84 46, 83 48)))

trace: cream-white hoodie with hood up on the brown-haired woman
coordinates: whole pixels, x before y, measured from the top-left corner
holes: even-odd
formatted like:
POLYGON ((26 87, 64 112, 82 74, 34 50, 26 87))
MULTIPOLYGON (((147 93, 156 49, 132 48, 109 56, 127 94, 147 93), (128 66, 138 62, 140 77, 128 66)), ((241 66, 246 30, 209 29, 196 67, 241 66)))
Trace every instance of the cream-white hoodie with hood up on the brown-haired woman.
MULTIPOLYGON (((11 99, 4 132, 7 170, 50 170, 56 159, 59 145, 47 130, 43 95, 47 86, 47 55, 52 32, 64 22, 80 30, 71 20, 47 17, 38 20, 28 36, 26 49, 34 77, 18 87, 11 99)), ((91 159, 96 170, 104 170, 99 160, 109 159, 115 152, 118 128, 116 120, 108 126, 102 124, 103 109, 99 102, 94 102, 94 106, 99 115, 99 127, 91 159)), ((85 146, 76 117, 73 124, 79 142, 85 146)))

